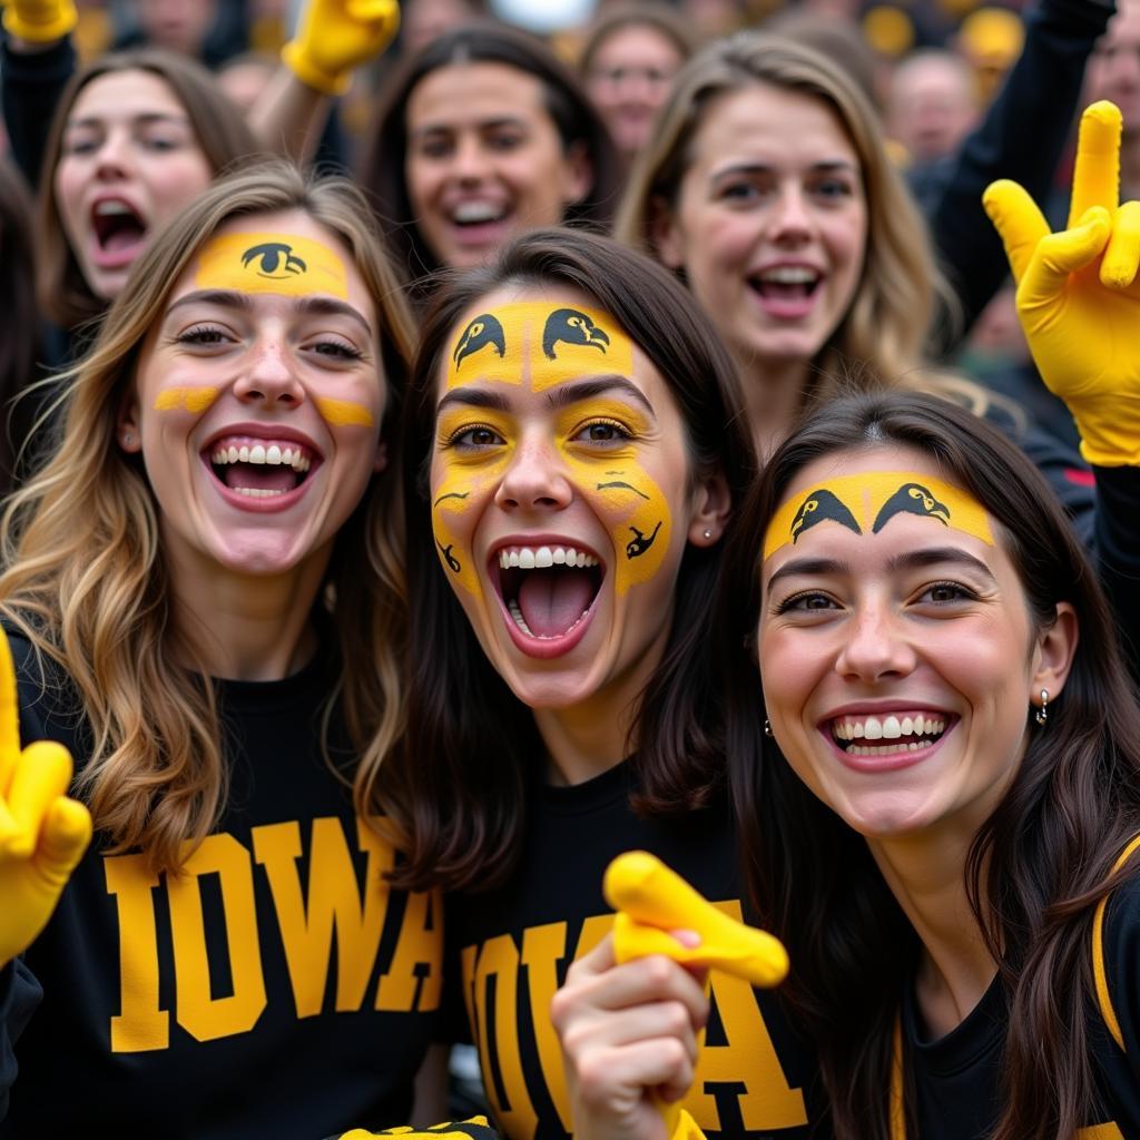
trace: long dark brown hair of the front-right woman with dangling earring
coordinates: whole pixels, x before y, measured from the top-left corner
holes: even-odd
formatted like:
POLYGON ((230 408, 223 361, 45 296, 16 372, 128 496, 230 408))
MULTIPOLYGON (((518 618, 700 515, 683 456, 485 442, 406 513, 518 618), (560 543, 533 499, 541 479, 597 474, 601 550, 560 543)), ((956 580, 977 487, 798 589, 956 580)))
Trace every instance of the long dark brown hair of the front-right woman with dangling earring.
MULTIPOLYGON (((758 619, 762 536, 797 473, 880 445, 930 456, 997 521, 1036 629, 1056 619, 1058 602, 1076 611, 1080 641, 1064 692, 1050 702, 1049 728, 1031 734, 964 868, 1009 1000, 993 1135, 1070 1138, 1093 1097, 1085 1040, 1096 1008, 1093 909, 1121 878, 1110 878, 1113 863, 1140 831, 1140 711, 1092 565, 1049 484, 1004 437, 937 397, 894 392, 817 410, 777 449, 743 507, 719 621, 730 779, 752 899, 796 963, 782 999, 820 1044, 834 1134, 888 1140, 891 1034, 918 936, 864 839, 765 740, 755 646, 740 641, 741 618, 749 630, 758 619)), ((909 1134, 918 1134, 913 1118, 909 1134)))

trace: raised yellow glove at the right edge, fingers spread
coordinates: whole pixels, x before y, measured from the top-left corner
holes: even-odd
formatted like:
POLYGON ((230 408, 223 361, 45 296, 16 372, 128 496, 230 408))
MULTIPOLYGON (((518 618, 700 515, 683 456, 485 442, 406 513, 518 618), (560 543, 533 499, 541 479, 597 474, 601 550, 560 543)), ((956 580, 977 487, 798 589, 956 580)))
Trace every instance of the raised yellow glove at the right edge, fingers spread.
POLYGON ((1068 229, 1051 234, 1017 182, 982 199, 1033 359, 1073 413, 1081 454, 1106 467, 1140 464, 1140 202, 1117 205, 1121 127, 1112 103, 1081 116, 1068 229))

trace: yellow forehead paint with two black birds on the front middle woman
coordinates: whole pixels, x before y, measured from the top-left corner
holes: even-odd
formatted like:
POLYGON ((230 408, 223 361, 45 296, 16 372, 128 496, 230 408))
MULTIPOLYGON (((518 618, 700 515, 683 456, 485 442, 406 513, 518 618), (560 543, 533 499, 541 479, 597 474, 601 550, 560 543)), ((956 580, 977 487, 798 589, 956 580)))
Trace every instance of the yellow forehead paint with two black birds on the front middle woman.
POLYGON ((542 392, 583 376, 632 376, 633 342, 596 309, 521 301, 473 317, 451 345, 447 386, 475 381, 542 392))

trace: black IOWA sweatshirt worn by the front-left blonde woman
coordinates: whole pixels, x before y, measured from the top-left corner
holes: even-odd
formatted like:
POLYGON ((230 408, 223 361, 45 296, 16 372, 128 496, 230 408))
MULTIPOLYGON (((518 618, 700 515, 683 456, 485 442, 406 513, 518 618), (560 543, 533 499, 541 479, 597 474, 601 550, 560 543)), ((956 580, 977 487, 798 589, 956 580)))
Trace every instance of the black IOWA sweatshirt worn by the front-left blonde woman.
MULTIPOLYGON (((11 646, 25 743, 59 740, 81 764, 74 702, 11 646)), ((23 956, 42 1002, 22 1033, 26 1003, 0 1024, 18 1064, 0 1137, 276 1140, 408 1118, 437 1035, 440 914, 388 889, 392 848, 325 764, 334 675, 318 657, 280 682, 219 683, 228 807, 182 874, 96 834, 23 956)))

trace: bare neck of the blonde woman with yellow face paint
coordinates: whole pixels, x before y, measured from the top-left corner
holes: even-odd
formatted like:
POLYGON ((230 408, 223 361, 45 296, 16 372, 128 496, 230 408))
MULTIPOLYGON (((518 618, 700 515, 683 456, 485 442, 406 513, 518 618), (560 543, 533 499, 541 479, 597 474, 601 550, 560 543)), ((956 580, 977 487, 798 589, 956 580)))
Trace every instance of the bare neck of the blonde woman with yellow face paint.
MULTIPOLYGON (((217 563, 171 568, 174 627, 212 677, 280 681, 317 650, 312 606, 328 555, 287 573, 251 576, 217 563)), ((203 560, 205 562, 205 560, 203 560)))

